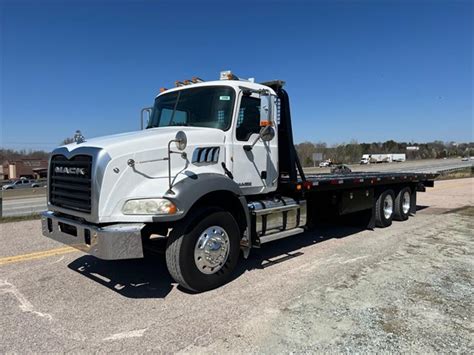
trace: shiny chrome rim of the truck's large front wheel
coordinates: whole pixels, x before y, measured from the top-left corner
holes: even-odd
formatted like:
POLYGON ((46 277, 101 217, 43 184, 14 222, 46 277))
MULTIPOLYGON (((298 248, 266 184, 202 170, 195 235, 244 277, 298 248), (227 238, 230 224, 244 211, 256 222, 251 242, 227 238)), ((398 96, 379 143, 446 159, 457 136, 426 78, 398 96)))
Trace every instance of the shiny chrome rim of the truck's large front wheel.
POLYGON ((227 232, 219 226, 207 228, 199 236, 194 247, 194 262, 203 274, 219 271, 229 257, 230 240, 227 232))

